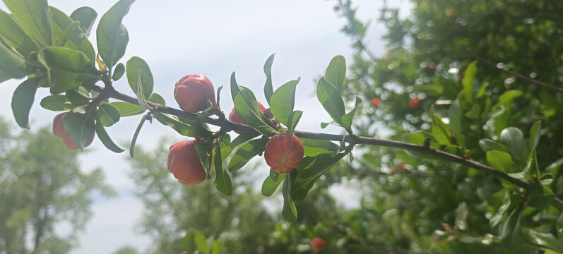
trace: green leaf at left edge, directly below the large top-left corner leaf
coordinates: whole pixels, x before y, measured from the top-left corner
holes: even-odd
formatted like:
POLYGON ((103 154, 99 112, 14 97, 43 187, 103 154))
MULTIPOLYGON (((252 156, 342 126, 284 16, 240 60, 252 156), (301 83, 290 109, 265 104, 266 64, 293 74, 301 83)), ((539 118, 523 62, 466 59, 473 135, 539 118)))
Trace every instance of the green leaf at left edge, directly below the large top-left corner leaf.
MULTIPOLYGON (((37 52, 37 45, 31 37, 16 23, 8 13, 0 10, 0 37, 11 47, 14 47, 22 56, 29 56, 37 52)), ((3 59, 4 61, 4 59, 3 59)))

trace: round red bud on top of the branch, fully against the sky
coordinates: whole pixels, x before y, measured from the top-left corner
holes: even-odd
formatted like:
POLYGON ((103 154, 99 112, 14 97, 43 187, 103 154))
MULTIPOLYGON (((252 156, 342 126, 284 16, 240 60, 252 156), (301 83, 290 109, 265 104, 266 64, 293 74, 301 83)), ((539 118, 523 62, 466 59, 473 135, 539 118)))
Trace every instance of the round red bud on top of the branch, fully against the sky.
POLYGON ((207 109, 207 100, 215 102, 215 90, 211 81, 203 74, 190 74, 180 78, 174 88, 174 98, 180 109, 195 113, 207 109))

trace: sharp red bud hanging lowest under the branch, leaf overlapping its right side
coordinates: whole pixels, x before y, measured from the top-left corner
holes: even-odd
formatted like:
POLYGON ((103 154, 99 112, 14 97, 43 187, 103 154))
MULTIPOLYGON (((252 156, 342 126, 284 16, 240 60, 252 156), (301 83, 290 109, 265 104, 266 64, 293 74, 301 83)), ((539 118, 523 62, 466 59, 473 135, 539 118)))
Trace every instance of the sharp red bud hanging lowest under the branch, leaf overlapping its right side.
POLYGON ((168 151, 168 171, 180 183, 194 185, 206 179, 206 171, 201 165, 195 145, 198 140, 186 140, 170 146, 168 151))

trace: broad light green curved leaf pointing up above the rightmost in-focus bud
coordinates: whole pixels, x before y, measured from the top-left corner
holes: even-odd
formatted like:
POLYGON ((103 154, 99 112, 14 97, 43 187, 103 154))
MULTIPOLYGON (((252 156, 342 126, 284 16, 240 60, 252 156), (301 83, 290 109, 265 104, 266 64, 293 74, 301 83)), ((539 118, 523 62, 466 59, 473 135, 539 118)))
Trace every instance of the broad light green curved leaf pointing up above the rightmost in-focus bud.
POLYGON ((270 99, 270 110, 275 119, 283 125, 290 127, 289 118, 295 105, 295 88, 300 78, 283 84, 273 92, 270 99))

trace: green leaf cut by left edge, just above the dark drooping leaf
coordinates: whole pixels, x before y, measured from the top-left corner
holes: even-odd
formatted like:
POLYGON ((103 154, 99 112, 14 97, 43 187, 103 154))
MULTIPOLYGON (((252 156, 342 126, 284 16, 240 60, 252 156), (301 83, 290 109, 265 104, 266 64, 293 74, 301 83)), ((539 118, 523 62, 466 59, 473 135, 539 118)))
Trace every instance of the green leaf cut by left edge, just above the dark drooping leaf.
POLYGON ((2 80, 25 78, 26 75, 33 72, 33 69, 28 66, 23 56, 6 47, 2 40, 0 40, 0 59, 0 73, 3 73, 2 80))

